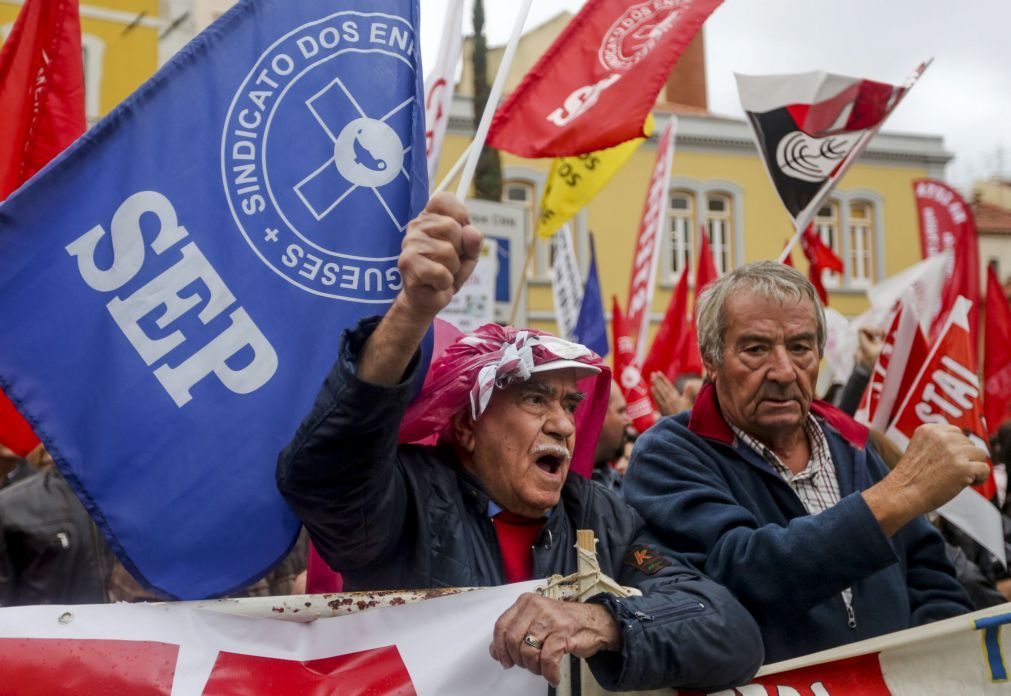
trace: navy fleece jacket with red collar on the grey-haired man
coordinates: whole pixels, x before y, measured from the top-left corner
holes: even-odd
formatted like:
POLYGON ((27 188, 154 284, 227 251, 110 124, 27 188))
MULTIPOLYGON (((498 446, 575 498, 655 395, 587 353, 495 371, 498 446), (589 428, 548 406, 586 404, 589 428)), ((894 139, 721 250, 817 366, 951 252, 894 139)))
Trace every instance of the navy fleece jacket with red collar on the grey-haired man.
POLYGON ((690 414, 636 443, 625 498, 661 542, 730 588, 757 619, 766 663, 972 610, 940 535, 917 518, 891 539, 858 492, 888 472, 866 430, 816 403, 840 502, 812 516, 759 454, 735 441, 708 384, 690 414), (849 620, 840 593, 853 591, 849 620), (853 625, 851 625, 853 624, 853 625))

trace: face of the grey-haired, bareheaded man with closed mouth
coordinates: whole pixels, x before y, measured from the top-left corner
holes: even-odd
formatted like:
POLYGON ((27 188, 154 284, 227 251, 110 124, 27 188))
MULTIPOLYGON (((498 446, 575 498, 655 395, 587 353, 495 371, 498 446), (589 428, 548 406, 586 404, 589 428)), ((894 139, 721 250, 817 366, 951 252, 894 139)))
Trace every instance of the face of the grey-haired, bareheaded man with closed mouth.
POLYGON ((779 303, 745 290, 725 309, 723 363, 706 364, 724 417, 765 443, 796 433, 818 380, 814 304, 779 303))

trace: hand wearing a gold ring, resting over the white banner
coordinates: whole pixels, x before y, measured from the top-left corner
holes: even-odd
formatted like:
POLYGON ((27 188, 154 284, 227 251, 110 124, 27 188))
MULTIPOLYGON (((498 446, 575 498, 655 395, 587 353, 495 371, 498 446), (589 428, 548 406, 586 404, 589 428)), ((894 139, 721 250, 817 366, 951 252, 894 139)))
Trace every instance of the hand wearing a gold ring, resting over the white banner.
POLYGON ((519 665, 558 686, 566 655, 590 658, 600 650, 621 648, 618 623, 602 605, 561 602, 527 593, 495 622, 488 651, 503 668, 519 665), (528 635, 543 646, 524 642, 528 635))

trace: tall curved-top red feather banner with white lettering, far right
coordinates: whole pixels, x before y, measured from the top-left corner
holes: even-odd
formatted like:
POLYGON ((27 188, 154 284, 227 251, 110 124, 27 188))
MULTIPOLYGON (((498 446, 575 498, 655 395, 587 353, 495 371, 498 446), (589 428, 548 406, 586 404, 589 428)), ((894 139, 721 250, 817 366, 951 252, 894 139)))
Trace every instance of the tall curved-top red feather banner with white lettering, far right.
POLYGON ((978 336, 980 306, 980 247, 976 235, 976 219, 958 192, 943 181, 917 179, 913 182, 916 211, 920 220, 920 243, 927 259, 951 250, 952 256, 944 269, 944 289, 941 309, 930 328, 936 337, 958 295, 973 302, 969 323, 973 336, 978 336))

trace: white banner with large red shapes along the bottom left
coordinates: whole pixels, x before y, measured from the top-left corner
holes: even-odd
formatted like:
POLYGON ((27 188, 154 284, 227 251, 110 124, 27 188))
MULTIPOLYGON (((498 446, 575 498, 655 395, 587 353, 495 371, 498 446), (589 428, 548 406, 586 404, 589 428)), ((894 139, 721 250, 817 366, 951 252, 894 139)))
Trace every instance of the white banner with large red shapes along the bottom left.
POLYGON ((0 609, 0 693, 547 694, 488 655, 539 582, 294 623, 187 603, 0 609))

